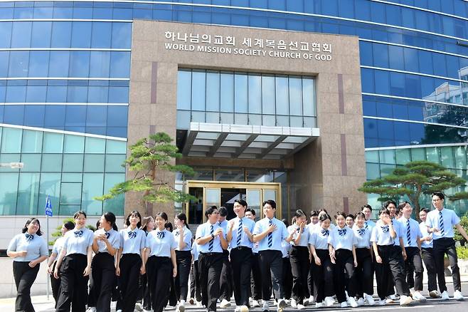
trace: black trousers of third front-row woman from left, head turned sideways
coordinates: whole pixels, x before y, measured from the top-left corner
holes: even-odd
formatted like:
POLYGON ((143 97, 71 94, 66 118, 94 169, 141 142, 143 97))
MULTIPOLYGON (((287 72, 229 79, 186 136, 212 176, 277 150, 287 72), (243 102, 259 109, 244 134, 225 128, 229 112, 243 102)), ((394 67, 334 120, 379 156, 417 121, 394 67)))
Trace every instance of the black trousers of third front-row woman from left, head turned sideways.
MULTIPOLYGON (((97 311, 110 312, 110 300, 115 286, 114 256, 99 252, 91 263, 90 298, 95 298, 97 311)), ((92 306, 89 304, 88 306, 92 306)))

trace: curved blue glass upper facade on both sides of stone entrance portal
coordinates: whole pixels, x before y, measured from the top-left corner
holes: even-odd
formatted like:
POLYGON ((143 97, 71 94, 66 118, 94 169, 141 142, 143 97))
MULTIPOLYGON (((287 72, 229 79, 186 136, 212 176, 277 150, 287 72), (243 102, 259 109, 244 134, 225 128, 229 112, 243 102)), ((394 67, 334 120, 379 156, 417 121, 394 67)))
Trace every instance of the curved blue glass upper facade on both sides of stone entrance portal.
POLYGON ((358 36, 366 148, 467 143, 463 0, 1 2, 0 124, 124 139, 134 19, 358 36))

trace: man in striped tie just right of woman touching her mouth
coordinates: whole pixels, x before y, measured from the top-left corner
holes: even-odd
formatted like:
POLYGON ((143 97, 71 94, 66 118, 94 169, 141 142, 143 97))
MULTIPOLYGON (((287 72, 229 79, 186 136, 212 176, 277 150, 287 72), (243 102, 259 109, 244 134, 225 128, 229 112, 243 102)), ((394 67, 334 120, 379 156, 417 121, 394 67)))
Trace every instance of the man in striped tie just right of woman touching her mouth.
POLYGON ((405 271, 406 282, 409 288, 414 288, 413 298, 419 301, 425 301, 426 297, 422 296, 422 259, 420 254, 422 237, 419 223, 415 219, 411 219, 413 207, 408 202, 403 202, 398 205, 403 216, 398 219, 401 228, 403 229, 403 246, 406 251, 405 271))

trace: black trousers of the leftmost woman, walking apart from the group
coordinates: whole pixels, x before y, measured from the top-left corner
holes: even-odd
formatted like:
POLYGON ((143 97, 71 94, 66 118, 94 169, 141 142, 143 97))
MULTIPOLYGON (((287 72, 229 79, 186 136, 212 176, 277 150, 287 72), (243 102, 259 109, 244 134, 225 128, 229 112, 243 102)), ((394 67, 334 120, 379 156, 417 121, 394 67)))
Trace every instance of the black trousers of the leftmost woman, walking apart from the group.
POLYGON ((13 261, 13 276, 16 284, 15 311, 34 312, 31 303, 31 286, 36 281, 40 264, 33 268, 29 266, 29 261, 13 261))

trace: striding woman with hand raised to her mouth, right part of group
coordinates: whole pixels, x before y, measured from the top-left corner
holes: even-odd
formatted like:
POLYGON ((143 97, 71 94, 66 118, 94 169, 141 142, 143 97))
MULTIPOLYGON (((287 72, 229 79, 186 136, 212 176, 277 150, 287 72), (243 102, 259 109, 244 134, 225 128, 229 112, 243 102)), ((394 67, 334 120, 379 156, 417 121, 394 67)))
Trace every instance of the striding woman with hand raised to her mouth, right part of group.
MULTIPOLYGON (((393 205, 395 202, 385 202, 384 207, 393 205)), ((410 289, 405 281, 405 264, 399 249, 395 249, 394 241, 397 238, 397 233, 393 225, 397 222, 392 222, 390 212, 387 208, 382 208, 379 212, 379 221, 376 222, 376 227, 372 229, 371 241, 373 244, 373 252, 376 256, 376 281, 377 293, 380 298, 379 305, 385 306, 385 297, 388 296, 390 276, 395 280, 395 286, 398 294, 400 294, 400 306, 405 306, 411 303, 410 289), (391 274, 391 275, 390 275, 391 274)))

